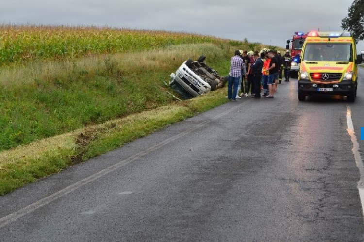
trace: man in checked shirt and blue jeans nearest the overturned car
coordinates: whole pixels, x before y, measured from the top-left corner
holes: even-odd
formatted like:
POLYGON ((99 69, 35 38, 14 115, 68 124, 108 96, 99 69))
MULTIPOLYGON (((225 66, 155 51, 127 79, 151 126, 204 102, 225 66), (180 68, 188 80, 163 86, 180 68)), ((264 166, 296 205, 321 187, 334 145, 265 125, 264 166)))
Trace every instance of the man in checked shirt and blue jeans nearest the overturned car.
POLYGON ((236 101, 236 95, 238 92, 239 79, 241 76, 241 68, 243 67, 243 59, 240 58, 239 50, 236 50, 234 57, 231 58, 229 82, 228 82, 228 99, 236 101))

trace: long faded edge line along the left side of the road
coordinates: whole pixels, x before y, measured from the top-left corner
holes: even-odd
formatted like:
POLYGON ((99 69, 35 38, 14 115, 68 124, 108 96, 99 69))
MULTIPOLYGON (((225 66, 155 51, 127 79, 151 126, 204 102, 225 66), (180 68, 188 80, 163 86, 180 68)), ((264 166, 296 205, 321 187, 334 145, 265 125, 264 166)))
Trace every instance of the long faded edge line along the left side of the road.
POLYGON ((97 172, 97 173, 95 173, 95 174, 81 180, 81 181, 73 183, 72 185, 67 186, 66 188, 64 188, 64 189, 62 189, 62 190, 60 190, 60 191, 58 191, 56 193, 51 194, 48 197, 44 197, 44 198, 42 198, 42 199, 40 199, 40 200, 26 206, 26 207, 18 210, 17 212, 13 212, 13 213, 11 213, 9 215, 6 215, 5 217, 0 218, 0 228, 10 224, 11 222, 13 222, 13 221, 15 221, 15 220, 17 220, 17 219, 19 219, 21 217, 23 217, 24 215, 27 215, 27 214, 29 214, 29 213, 43 207, 43 206, 49 204, 50 202, 52 202, 52 201, 54 201, 54 200, 56 200, 56 199, 58 199, 60 197, 66 196, 67 194, 77 190, 78 188, 80 188, 80 187, 82 187, 82 186, 84 186, 84 185, 86 185, 86 184, 88 184, 88 183, 90 183, 92 181, 95 181, 95 180, 109 174, 110 172, 113 172, 113 171, 119 169, 120 167, 125 166, 126 164, 128 164, 128 163, 130 163, 132 161, 135 161, 136 159, 139 159, 140 157, 142 157, 144 155, 149 154, 152 151, 155 151, 155 150, 159 149, 162 146, 165 146, 166 144, 169 144, 169 143, 173 142, 176 139, 181 138, 182 136, 185 136, 185 135, 187 135, 187 134, 189 134, 189 133, 191 133, 191 132, 193 132, 193 131, 195 131, 195 130, 197 130, 199 128, 202 128, 204 125, 206 125, 206 123, 208 123, 210 121, 215 121, 215 120, 217 120, 217 119, 219 119, 219 118, 221 118, 223 116, 226 116, 228 113, 230 113, 232 111, 235 111, 236 109, 238 109, 238 110, 241 109, 241 106, 244 106, 244 105, 246 105, 246 104, 248 104, 250 102, 251 102, 251 100, 248 100, 248 101, 245 101, 245 102, 243 102, 241 104, 238 104, 238 105, 236 105, 236 106, 234 106, 234 107, 232 107, 232 108, 230 108, 228 110, 225 110, 224 112, 216 115, 214 118, 211 118, 210 120, 202 121, 199 124, 195 125, 193 128, 182 131, 181 133, 179 133, 179 134, 177 134, 175 136, 172 136, 172 137, 170 137, 168 139, 165 139, 164 141, 160 142, 159 144, 156 144, 154 146, 149 147, 149 149, 141 151, 141 152, 139 152, 139 153, 137 153, 137 154, 135 154, 135 155, 133 155, 133 156, 131 156, 129 158, 126 158, 126 159, 116 163, 113 166, 109 166, 108 168, 103 169, 103 170, 101 170, 101 171, 99 171, 99 172, 97 172))

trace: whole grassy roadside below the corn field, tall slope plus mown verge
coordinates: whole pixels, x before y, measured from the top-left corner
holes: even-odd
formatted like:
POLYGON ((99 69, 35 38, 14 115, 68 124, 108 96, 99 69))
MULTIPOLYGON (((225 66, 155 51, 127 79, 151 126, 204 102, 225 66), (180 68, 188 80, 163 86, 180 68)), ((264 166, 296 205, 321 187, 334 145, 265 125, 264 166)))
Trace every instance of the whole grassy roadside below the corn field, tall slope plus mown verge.
POLYGON ((205 54, 222 75, 230 45, 29 63, 0 69, 0 195, 226 102, 225 90, 186 101, 169 74, 205 54))

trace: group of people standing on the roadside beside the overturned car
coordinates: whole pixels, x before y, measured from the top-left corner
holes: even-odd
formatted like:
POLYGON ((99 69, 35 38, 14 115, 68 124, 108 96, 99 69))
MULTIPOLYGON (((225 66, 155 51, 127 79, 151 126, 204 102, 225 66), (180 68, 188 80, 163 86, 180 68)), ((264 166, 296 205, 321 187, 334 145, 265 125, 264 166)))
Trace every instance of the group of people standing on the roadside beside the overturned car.
POLYGON ((263 97, 274 98, 283 69, 285 81, 289 81, 290 61, 289 51, 282 57, 279 51, 266 48, 261 52, 236 50, 231 58, 227 98, 236 101, 237 98, 248 97, 249 91, 251 97, 260 98, 261 85, 263 97))

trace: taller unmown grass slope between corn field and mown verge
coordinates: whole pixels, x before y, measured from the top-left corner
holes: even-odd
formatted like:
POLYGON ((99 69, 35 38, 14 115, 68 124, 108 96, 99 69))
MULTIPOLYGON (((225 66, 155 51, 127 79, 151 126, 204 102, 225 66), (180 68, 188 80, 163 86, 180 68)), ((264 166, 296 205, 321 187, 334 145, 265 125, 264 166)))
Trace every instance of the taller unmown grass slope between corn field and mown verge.
POLYGON ((205 54, 221 70, 229 45, 174 45, 79 61, 0 68, 0 151, 173 101, 165 82, 181 63, 205 54))

